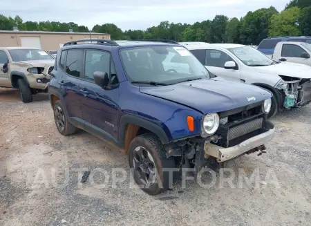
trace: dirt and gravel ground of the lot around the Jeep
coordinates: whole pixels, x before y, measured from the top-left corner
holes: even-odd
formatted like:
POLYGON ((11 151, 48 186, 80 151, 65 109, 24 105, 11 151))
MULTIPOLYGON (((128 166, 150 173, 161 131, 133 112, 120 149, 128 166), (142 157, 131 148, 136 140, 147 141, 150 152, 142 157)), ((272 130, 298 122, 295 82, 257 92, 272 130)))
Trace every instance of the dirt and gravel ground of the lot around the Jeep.
POLYGON ((311 225, 310 116, 311 104, 277 115, 266 154, 225 164, 232 185, 218 177, 209 189, 189 181, 148 196, 129 176, 116 186, 100 187, 104 173, 77 183, 77 168, 129 172, 127 156, 85 132, 60 135, 46 94, 23 104, 17 91, 0 89, 0 225, 311 225), (241 169, 258 170, 259 184, 241 188, 241 169))

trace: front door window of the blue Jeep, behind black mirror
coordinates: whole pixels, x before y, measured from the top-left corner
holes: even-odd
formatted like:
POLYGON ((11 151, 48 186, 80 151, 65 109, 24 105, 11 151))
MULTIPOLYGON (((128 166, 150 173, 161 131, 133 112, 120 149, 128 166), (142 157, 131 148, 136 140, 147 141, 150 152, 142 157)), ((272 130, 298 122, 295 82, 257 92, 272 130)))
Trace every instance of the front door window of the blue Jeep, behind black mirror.
POLYGON ((95 71, 110 73, 110 53, 98 50, 86 50, 85 77, 94 80, 95 71))

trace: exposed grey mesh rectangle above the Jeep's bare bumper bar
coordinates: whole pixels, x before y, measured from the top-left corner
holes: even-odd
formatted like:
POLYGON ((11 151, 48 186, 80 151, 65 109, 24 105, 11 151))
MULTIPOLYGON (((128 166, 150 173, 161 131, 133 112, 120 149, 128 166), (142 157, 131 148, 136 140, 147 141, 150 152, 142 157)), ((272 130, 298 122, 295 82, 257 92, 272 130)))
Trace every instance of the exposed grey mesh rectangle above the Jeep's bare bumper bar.
POLYGON ((235 138, 241 137, 247 133, 255 131, 256 129, 261 129, 263 126, 263 118, 258 118, 256 120, 252 120, 245 124, 241 124, 240 126, 236 126, 228 131, 228 140, 234 140, 235 138))

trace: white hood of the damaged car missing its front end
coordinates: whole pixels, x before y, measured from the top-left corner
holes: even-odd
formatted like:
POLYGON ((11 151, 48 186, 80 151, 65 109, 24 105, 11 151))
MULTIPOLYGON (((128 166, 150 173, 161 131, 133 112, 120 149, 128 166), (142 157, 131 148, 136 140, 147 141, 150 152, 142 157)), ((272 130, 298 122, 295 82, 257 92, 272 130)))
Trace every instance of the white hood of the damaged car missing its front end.
POLYGON ((304 64, 281 62, 270 66, 255 67, 258 73, 285 75, 301 79, 311 78, 311 67, 304 64))

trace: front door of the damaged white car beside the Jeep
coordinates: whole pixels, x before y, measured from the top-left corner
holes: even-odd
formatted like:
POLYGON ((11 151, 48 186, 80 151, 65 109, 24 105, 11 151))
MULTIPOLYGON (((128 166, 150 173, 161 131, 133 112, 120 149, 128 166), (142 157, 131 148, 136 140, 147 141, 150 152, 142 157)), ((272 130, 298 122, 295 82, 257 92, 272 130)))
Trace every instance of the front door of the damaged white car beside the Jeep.
POLYGON ((206 60, 205 67, 214 75, 223 77, 227 80, 232 81, 241 81, 241 69, 225 69, 225 63, 234 61, 232 57, 227 55, 227 53, 216 50, 216 49, 207 49, 206 50, 206 60))

